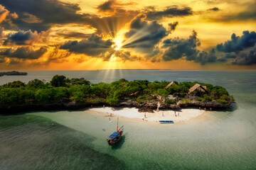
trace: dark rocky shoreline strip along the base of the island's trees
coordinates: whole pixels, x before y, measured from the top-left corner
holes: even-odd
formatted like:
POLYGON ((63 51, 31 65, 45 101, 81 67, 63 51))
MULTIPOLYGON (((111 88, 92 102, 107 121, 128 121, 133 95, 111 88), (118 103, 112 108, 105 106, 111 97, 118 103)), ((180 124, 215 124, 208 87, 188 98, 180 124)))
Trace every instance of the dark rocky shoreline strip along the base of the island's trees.
MULTIPOLYGON (((233 102, 230 101, 228 104, 218 103, 216 101, 210 102, 202 102, 202 101, 186 101, 182 102, 179 101, 176 105, 174 104, 167 104, 167 103, 160 103, 159 108, 171 108, 171 109, 179 109, 179 108, 186 108, 186 107, 206 107, 206 108, 228 108, 233 102)), ((2 114, 9 114, 9 113, 21 113, 26 111, 57 111, 57 110, 75 110, 75 109, 84 109, 93 107, 102 107, 110 106, 105 101, 94 101, 94 102, 85 102, 85 103, 78 103, 75 101, 65 101, 65 102, 52 102, 48 104, 43 103, 34 103, 30 105, 21 105, 21 106, 14 106, 12 108, 1 108, 2 114)), ((139 103, 137 101, 121 101, 116 106, 125 106, 125 107, 135 107, 139 108, 139 112, 149 112, 152 113, 154 109, 157 108, 158 103, 156 102, 144 102, 139 103)), ((115 106, 113 106, 115 107, 115 106)))

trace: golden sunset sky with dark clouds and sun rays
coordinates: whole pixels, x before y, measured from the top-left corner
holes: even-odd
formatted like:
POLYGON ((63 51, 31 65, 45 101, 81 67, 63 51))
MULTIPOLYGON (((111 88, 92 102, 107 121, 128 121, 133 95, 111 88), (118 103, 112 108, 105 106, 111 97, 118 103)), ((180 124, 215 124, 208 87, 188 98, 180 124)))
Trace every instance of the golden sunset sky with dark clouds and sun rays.
POLYGON ((256 69, 255 0, 2 0, 0 70, 256 69))

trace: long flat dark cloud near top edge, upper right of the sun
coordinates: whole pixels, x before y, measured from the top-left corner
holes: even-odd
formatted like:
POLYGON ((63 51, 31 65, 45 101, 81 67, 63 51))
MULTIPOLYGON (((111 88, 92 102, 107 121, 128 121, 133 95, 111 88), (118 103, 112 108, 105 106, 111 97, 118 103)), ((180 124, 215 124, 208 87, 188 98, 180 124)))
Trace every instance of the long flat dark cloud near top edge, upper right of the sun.
POLYGON ((159 20, 164 17, 173 18, 178 16, 191 16, 193 11, 190 7, 168 6, 163 11, 156 11, 154 7, 147 8, 150 11, 146 11, 148 20, 159 20))

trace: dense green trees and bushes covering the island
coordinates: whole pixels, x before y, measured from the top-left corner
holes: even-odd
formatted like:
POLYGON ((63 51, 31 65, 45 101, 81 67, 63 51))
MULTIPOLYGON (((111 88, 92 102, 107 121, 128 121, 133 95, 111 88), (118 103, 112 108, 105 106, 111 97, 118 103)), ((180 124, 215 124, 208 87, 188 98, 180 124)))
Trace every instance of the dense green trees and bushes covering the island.
POLYGON ((176 104, 178 101, 213 101, 228 104, 234 101, 233 96, 229 96, 228 91, 221 86, 175 81, 175 84, 165 89, 167 84, 169 81, 127 81, 126 79, 119 79, 111 84, 103 82, 91 84, 86 79, 67 79, 61 75, 55 75, 50 83, 39 79, 33 79, 28 84, 13 81, 0 86, 0 109, 70 101, 77 103, 102 101, 113 106, 124 100, 166 104, 176 104), (188 90, 195 84, 206 86, 209 93, 193 91, 188 94, 188 90))

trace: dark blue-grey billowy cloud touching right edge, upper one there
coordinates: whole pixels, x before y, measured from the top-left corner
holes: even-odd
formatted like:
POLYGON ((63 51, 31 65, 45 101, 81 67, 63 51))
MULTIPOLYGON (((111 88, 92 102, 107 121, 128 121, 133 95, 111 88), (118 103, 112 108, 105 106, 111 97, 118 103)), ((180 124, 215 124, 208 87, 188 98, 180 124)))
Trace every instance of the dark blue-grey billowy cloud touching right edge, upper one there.
POLYGON ((235 33, 231 35, 231 40, 224 43, 220 43, 216 46, 218 51, 221 52, 239 52, 245 50, 248 47, 255 46, 256 33, 254 31, 249 32, 245 30, 242 32, 242 36, 236 36, 235 33))

